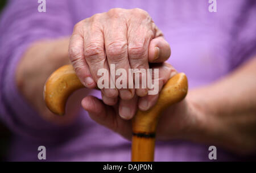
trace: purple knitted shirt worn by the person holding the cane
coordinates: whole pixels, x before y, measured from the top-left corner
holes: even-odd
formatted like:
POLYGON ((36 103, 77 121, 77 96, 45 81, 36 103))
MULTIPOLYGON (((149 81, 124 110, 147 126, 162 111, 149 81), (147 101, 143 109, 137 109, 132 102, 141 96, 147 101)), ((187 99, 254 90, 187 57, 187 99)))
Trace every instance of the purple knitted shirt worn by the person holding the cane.
MULTIPOLYGON (((14 133, 10 161, 38 161, 38 146, 47 161, 130 161, 131 142, 98 125, 81 109, 69 126, 47 123, 19 94, 16 65, 36 40, 71 35, 73 26, 114 7, 146 10, 171 45, 168 62, 189 79, 189 88, 223 77, 255 54, 255 1, 50 1, 38 12, 37 1, 9 1, 0 21, 0 117, 14 133)), ((92 93, 100 96, 98 92, 92 93)), ((155 161, 209 161, 209 145, 185 141, 156 142, 155 161)), ((218 161, 241 159, 217 147, 218 161)))

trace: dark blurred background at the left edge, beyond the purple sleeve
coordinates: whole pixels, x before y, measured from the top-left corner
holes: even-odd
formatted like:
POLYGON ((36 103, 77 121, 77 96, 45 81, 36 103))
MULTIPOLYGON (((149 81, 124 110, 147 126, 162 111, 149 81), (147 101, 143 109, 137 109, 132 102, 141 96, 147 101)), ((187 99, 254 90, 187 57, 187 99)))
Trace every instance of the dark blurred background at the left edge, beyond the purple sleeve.
MULTIPOLYGON (((7 0, 0 1, 0 13, 5 7, 7 0)), ((1 14, 0 14, 1 15, 1 14)), ((5 125, 0 121, 0 161, 3 161, 8 150, 8 145, 10 143, 11 132, 6 128, 5 125)))

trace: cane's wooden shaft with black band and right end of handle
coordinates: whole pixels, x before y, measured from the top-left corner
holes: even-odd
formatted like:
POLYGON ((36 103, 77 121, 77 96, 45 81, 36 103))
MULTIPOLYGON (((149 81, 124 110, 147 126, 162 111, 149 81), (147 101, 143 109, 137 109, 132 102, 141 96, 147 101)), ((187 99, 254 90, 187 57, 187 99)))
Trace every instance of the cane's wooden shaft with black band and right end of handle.
POLYGON ((176 74, 164 85, 154 107, 148 111, 137 111, 132 121, 132 161, 154 161, 155 132, 160 114, 167 107, 184 99, 187 91, 187 77, 184 73, 176 74))

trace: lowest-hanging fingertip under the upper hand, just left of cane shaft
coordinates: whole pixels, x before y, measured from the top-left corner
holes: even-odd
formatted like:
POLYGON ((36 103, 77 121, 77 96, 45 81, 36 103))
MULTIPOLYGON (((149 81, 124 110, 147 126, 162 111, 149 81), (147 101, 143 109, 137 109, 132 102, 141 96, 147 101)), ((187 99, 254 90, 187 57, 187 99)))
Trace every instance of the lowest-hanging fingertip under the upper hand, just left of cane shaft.
POLYGON ((137 111, 137 101, 137 95, 134 95, 130 100, 119 100, 119 115, 122 119, 130 120, 133 118, 137 111))

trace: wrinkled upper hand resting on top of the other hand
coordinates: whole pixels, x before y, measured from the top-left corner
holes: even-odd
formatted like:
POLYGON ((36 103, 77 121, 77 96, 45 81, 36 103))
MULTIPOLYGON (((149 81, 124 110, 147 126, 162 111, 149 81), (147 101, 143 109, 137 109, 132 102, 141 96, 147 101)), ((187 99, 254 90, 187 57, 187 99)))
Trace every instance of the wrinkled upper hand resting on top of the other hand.
MULTIPOLYGON (((75 25, 69 43, 69 58, 80 81, 88 88, 96 87, 99 69, 107 69, 110 74, 110 64, 115 64, 115 70, 125 69, 127 74, 128 69, 147 71, 148 62, 164 62, 170 54, 162 32, 141 9, 112 9, 81 20, 75 25)), ((165 77, 159 78, 167 81, 165 77)), ((110 80, 113 77, 109 75, 110 80)), ((146 110, 158 99, 158 94, 147 95, 148 86, 103 88, 101 92, 103 102, 110 106, 117 104, 119 95, 119 115, 123 119, 133 117, 137 102, 140 109, 146 110), (141 98, 138 100, 137 96, 141 98)))

